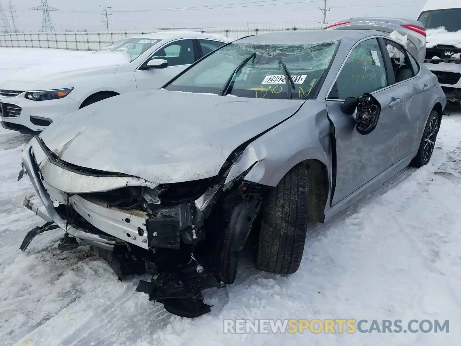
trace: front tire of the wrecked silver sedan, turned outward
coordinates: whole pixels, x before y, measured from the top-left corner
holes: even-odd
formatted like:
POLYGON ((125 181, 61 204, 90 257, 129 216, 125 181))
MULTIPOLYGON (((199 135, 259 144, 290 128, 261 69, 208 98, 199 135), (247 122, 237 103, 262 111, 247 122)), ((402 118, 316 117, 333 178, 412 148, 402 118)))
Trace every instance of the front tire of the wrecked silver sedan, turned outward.
POLYGON ((309 179, 299 164, 278 183, 261 211, 256 267, 275 274, 298 270, 307 233, 309 179))

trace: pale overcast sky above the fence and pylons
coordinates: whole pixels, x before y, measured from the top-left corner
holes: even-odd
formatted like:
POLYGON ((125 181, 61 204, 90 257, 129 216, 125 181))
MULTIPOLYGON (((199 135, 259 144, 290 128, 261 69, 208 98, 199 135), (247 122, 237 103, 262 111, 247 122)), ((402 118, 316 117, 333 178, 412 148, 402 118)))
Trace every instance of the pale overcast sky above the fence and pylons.
MULTIPOLYGON (((18 30, 41 29, 41 0, 11 0, 16 10, 18 30)), ((9 0, 0 0, 8 11, 9 0)), ((425 0, 328 0, 330 23, 350 17, 404 17, 416 19, 425 0)), ((262 27, 274 25, 315 25, 323 20, 318 9, 323 0, 48 0, 62 12, 50 12, 56 31, 100 31, 100 5, 112 6, 110 30, 154 30, 171 27, 262 27), (204 8, 204 7, 213 8, 204 8), (195 9, 194 9, 195 7, 195 9), (201 8, 200 8, 201 7, 201 8), (217 8, 219 7, 219 8, 217 8), (150 11, 149 11, 150 10, 150 11), (157 11, 154 11, 157 10, 157 11), (161 10, 161 11, 158 11, 161 10), (117 12, 139 11, 139 12, 117 12)), ((10 18, 11 25, 11 18, 10 18)), ((12 25, 11 25, 12 26, 12 25)))

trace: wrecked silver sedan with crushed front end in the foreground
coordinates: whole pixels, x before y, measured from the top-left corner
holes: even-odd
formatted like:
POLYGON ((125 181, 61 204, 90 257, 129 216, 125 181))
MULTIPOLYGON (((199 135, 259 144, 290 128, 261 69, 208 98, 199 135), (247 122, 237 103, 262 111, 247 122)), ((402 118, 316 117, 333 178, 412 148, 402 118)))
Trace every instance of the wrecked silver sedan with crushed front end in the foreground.
POLYGON ((377 31, 242 38, 34 137, 20 176, 47 223, 21 249, 60 228, 60 250, 80 239, 120 280, 152 275, 137 287, 150 300, 200 316, 201 291, 234 282, 245 244, 258 269, 294 273, 309 223, 429 162, 445 104, 437 78, 377 31))

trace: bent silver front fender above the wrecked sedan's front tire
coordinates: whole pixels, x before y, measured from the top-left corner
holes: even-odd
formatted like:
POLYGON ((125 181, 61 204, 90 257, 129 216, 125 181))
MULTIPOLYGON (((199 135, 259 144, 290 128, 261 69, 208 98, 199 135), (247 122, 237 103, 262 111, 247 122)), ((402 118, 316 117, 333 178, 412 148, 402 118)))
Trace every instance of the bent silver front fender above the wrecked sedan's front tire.
POLYGON ((290 119, 250 143, 234 163, 225 184, 243 172, 245 180, 276 186, 298 163, 315 159, 330 172, 330 122, 325 101, 307 101, 290 119))

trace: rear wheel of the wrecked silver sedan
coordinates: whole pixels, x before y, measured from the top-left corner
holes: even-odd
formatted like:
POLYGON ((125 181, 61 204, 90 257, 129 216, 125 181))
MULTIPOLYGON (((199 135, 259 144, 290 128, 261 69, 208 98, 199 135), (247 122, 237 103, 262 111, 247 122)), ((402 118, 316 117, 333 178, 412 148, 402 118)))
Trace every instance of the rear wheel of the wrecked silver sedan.
POLYGON ((429 114, 429 119, 427 119, 418 153, 411 161, 410 166, 419 168, 427 165, 427 163, 431 160, 439 128, 439 116, 437 111, 433 109, 431 114, 429 114))

